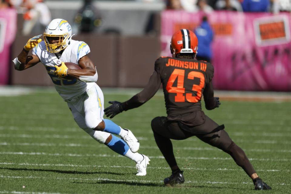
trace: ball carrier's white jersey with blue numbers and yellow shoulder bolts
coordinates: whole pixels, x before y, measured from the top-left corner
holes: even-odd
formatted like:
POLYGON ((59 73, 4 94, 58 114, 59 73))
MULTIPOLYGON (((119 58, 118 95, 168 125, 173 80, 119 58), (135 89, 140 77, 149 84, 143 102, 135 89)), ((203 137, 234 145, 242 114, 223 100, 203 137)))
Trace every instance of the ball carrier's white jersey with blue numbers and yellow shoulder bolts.
POLYGON ((45 66, 52 82, 55 84, 55 89, 64 100, 79 97, 95 83, 86 83, 79 79, 67 80, 59 78, 54 75, 55 65, 59 65, 61 62, 71 62, 79 65, 79 60, 89 52, 90 48, 85 42, 76 40, 70 40, 70 44, 64 49, 62 55, 48 52, 44 41, 38 43, 32 49, 32 54, 38 56, 45 66))

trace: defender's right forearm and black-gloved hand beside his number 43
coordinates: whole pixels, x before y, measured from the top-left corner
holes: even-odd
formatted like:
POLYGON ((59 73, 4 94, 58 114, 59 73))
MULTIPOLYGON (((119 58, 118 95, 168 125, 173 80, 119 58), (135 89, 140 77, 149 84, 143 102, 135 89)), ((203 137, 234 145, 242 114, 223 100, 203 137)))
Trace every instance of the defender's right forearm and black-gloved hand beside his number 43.
POLYGON ((206 84, 205 89, 203 91, 203 98, 205 102, 205 108, 207 110, 215 109, 219 107, 219 105, 221 104, 219 102, 219 97, 214 97, 212 81, 206 84))

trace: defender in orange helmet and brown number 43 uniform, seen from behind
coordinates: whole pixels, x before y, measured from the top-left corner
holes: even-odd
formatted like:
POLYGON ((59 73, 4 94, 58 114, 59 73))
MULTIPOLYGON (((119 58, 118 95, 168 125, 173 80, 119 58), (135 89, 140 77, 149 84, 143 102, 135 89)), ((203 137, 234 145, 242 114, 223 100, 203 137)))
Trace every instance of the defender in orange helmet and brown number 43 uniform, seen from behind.
POLYGON ((156 117, 151 126, 156 143, 172 169, 172 175, 164 179, 165 184, 184 182, 174 157, 170 139, 182 140, 196 136, 203 142, 228 153, 253 179, 255 189, 271 189, 256 174, 244 151, 239 148, 224 130, 201 110, 203 94, 207 110, 219 107, 218 97, 213 97, 211 63, 195 59, 198 39, 187 29, 174 33, 171 40, 171 57, 156 60, 155 70, 146 87, 126 102, 109 102, 106 116, 112 118, 122 111, 139 107, 147 102, 163 86, 167 117, 156 117))

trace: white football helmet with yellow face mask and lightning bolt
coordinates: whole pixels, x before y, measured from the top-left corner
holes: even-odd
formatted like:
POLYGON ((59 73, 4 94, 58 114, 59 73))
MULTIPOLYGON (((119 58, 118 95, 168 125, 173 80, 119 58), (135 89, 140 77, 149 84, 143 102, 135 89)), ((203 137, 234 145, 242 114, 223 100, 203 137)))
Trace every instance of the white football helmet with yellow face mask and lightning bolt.
POLYGON ((48 52, 58 53, 70 44, 72 28, 64 19, 53 19, 45 28, 43 36, 48 52), (52 37, 54 37, 54 40, 58 41, 58 43, 50 44, 49 39, 52 37))

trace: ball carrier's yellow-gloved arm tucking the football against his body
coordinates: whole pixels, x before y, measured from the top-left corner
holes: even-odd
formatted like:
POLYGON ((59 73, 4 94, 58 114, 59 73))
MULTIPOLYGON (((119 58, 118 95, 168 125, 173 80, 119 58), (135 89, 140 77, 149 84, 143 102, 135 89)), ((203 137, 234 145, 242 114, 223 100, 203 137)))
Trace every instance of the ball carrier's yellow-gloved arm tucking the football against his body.
POLYGON ((88 55, 83 56, 79 60, 79 66, 82 69, 68 69, 64 62, 62 65, 58 67, 55 65, 56 71, 55 74, 63 77, 67 75, 71 75, 76 79, 79 79, 83 82, 96 82, 98 79, 98 74, 95 65, 91 61, 88 55))

